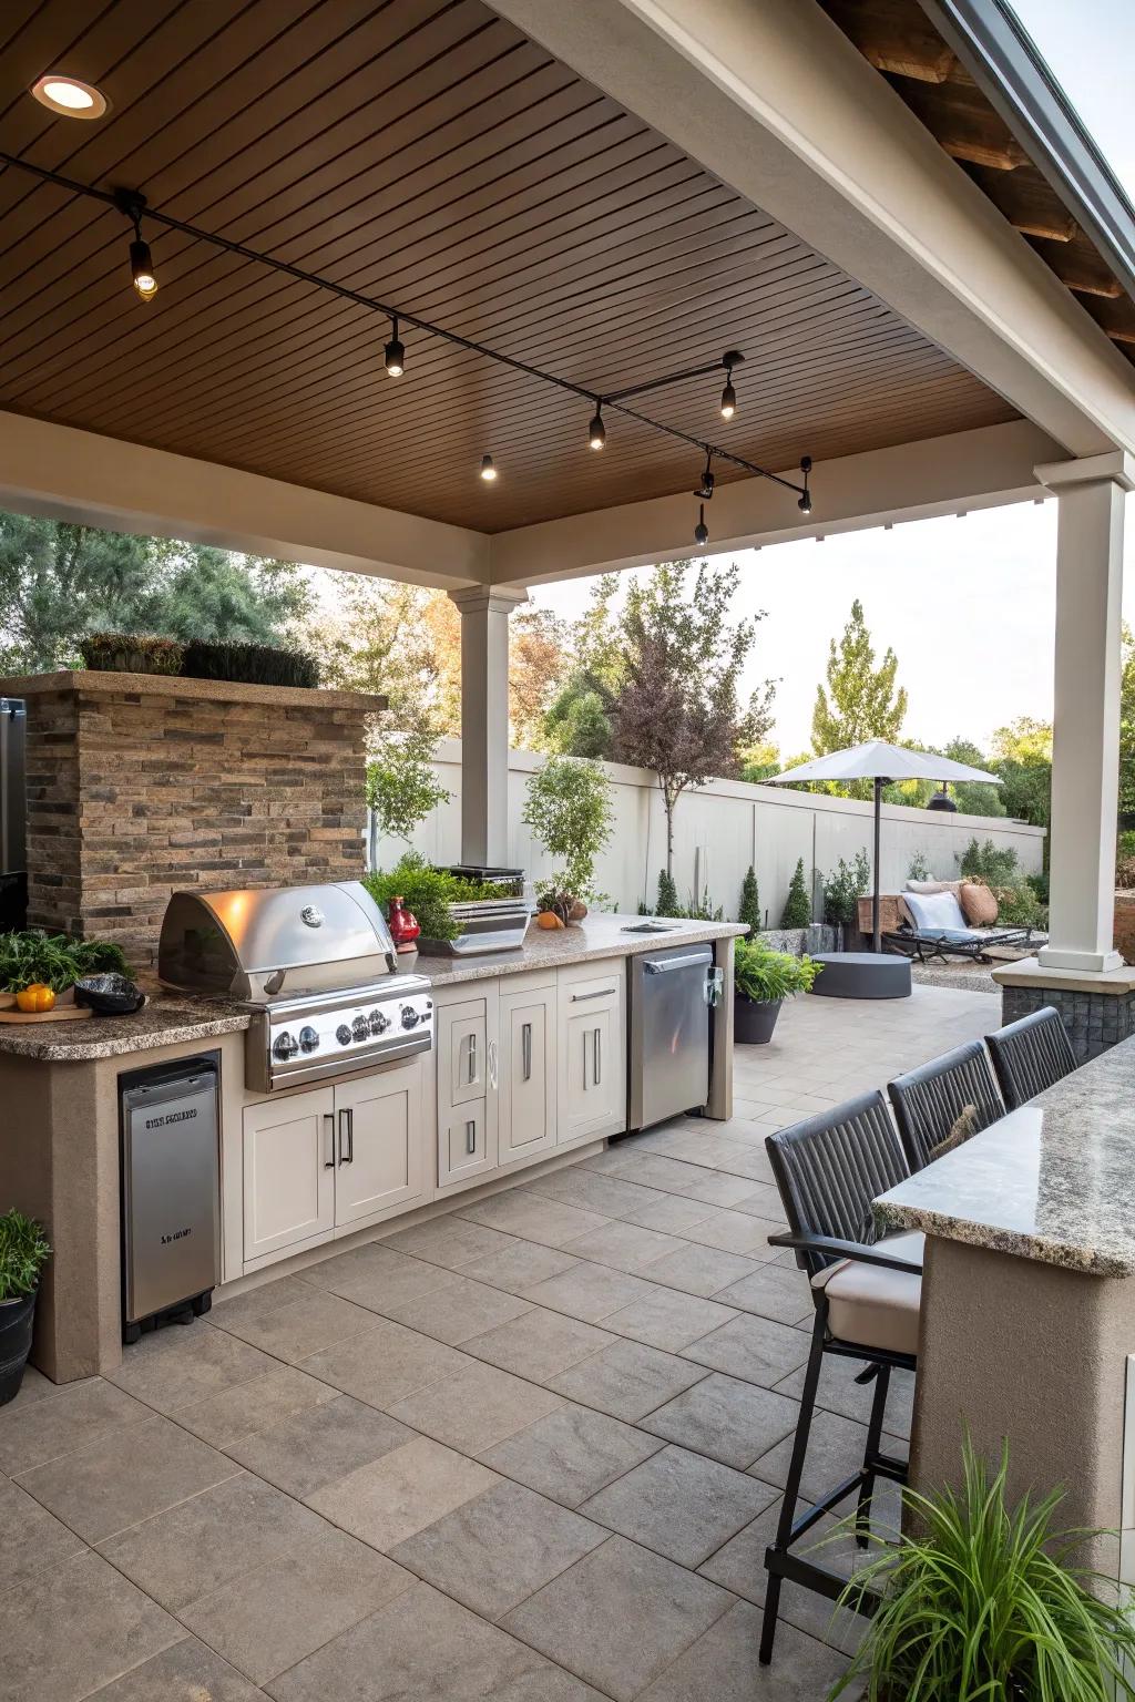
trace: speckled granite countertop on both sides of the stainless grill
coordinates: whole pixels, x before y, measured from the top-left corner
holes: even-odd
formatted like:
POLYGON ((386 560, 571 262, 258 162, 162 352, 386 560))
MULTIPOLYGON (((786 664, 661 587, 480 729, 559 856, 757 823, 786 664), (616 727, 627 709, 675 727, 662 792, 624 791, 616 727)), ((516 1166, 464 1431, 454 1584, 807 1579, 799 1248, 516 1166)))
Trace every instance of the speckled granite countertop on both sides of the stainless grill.
MULTIPOLYGON (((545 931, 529 926, 524 946, 516 951, 490 951, 483 957, 453 958, 420 953, 407 970, 429 975, 437 987, 461 980, 485 980, 495 975, 521 975, 528 970, 558 968, 563 963, 631 957, 664 946, 694 945, 699 940, 730 940, 747 933, 739 922, 670 922, 664 934, 626 934, 638 916, 589 916, 575 928, 545 931)), ((134 1016, 92 1016, 75 1023, 0 1025, 0 1059, 41 1059, 49 1064, 82 1064, 90 1059, 126 1057, 153 1047, 180 1045, 231 1035, 248 1026, 250 1014, 223 999, 197 999, 170 992, 143 979, 150 1002, 134 1016)))

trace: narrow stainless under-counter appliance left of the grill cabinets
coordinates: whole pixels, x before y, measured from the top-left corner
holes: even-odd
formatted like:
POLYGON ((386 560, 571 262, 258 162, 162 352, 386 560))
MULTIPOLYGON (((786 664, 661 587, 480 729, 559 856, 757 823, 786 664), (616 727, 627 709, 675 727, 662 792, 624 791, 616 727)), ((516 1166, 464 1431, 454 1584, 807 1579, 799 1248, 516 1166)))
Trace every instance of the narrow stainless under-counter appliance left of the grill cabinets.
POLYGON ((209 1311, 221 1280, 216 1057, 119 1076, 123 1338, 209 1311))

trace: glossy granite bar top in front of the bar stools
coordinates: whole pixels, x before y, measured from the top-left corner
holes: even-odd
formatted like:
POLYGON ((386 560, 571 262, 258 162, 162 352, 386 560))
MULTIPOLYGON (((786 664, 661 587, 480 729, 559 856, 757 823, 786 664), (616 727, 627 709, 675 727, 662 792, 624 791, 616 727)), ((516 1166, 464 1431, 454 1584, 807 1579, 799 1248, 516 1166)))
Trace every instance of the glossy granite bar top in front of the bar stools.
POLYGON ((1094 1276, 1135 1276, 1135 1040, 875 1202, 876 1219, 1094 1276))

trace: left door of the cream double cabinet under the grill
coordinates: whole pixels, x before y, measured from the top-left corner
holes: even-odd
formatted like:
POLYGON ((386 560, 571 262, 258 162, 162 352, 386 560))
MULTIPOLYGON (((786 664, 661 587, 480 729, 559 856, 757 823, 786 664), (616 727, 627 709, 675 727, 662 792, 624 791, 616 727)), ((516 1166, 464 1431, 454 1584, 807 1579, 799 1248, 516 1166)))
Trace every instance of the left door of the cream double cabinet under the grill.
POLYGON ((315 1088, 245 1106, 245 1265, 279 1248, 330 1236, 334 1098, 330 1088, 315 1088))

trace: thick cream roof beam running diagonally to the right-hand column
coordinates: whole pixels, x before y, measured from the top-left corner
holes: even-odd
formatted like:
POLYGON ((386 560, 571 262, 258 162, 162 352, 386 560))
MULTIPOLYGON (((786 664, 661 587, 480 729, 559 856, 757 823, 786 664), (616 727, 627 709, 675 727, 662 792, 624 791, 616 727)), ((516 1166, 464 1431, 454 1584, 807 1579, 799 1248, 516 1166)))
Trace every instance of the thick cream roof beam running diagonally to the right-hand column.
POLYGON ((813 0, 493 5, 1069 454, 1135 449, 1130 364, 813 0))

